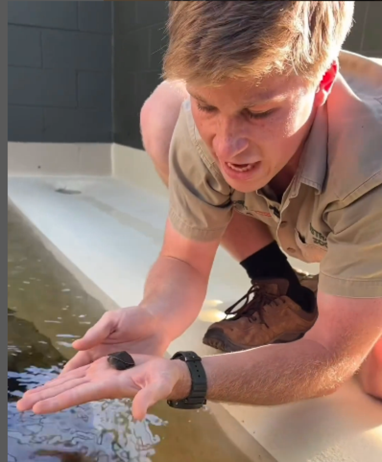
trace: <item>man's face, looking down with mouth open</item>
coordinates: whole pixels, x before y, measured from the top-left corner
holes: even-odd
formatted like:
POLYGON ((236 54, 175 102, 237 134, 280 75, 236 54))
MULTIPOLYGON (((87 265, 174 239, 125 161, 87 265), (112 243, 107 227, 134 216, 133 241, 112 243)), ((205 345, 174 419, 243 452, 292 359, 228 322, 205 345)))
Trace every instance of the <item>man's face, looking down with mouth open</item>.
POLYGON ((314 88, 299 77, 264 78, 259 86, 188 85, 196 127, 231 187, 264 187, 299 156, 314 117, 314 88))

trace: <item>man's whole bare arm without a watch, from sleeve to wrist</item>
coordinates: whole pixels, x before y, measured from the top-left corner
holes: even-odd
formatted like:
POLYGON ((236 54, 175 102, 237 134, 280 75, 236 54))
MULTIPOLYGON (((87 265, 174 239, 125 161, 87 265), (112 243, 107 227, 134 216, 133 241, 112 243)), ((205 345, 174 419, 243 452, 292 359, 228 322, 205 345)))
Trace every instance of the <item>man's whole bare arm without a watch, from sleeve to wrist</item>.
POLYGON ((148 275, 140 306, 155 316, 168 342, 199 314, 219 242, 187 239, 167 221, 162 250, 148 275))

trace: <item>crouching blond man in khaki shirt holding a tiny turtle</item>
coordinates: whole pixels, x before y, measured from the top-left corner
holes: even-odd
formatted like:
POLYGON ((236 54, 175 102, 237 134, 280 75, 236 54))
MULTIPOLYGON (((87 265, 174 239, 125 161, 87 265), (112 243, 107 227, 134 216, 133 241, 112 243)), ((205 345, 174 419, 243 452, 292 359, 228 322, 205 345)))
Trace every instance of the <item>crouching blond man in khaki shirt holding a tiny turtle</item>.
POLYGON ((161 399, 274 405, 356 372, 382 398, 382 69, 341 52, 352 15, 351 1, 170 2, 164 70, 187 93, 164 83, 141 116, 170 193, 160 256, 142 303, 106 313, 20 410, 124 396, 139 419, 161 399), (220 244, 252 287, 204 342, 235 353, 158 357, 196 319, 220 244), (285 253, 320 263, 318 287, 285 253), (136 366, 113 368, 118 351, 136 366))

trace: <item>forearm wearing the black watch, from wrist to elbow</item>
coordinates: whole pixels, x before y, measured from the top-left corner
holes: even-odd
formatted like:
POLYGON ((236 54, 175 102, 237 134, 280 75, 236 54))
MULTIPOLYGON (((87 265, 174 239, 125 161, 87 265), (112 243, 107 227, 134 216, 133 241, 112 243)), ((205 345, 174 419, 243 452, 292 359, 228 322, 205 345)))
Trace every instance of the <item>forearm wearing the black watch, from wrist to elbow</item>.
MULTIPOLYGON (((351 375, 348 366, 335 361, 323 346, 304 339, 207 356, 202 363, 207 374, 207 399, 237 404, 271 406, 323 396, 351 375)), ((190 374, 184 369, 184 379, 173 391, 174 399, 186 397, 190 390, 190 374)))

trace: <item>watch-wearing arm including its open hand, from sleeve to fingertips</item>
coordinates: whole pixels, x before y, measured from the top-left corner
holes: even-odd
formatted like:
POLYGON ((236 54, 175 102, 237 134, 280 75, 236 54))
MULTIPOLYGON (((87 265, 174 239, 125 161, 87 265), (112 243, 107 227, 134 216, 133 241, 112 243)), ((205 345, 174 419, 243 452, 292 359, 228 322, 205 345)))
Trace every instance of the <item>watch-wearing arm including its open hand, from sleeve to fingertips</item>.
MULTIPOLYGON (((160 289, 158 295, 162 296, 160 289)), ((306 339, 204 357, 207 398, 269 406, 337 390, 381 338, 382 300, 336 299, 323 294, 319 298, 320 318, 306 339)), ((134 355, 134 360, 137 367, 111 371, 105 358, 100 358, 28 391, 17 408, 45 414, 99 399, 134 397, 133 416, 141 420, 158 401, 189 395, 191 376, 184 361, 145 355, 134 355)))

